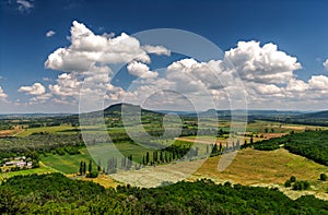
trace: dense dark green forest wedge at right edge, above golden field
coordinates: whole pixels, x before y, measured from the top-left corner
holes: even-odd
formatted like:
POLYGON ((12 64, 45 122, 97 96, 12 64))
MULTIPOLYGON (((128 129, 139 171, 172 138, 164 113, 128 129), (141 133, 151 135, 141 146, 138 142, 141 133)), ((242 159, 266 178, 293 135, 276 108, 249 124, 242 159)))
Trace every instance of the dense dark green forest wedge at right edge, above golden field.
POLYGON ((244 145, 255 150, 272 151, 284 147, 291 153, 302 155, 319 164, 328 166, 328 131, 305 131, 291 133, 282 138, 276 138, 244 145))

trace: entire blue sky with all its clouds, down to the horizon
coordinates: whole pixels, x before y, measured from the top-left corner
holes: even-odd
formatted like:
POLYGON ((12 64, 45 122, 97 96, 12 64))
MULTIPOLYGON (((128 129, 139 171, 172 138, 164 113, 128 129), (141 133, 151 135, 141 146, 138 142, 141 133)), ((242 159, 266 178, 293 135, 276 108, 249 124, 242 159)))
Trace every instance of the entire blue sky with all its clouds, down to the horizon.
POLYGON ((328 2, 0 1, 0 114, 328 109, 328 2))

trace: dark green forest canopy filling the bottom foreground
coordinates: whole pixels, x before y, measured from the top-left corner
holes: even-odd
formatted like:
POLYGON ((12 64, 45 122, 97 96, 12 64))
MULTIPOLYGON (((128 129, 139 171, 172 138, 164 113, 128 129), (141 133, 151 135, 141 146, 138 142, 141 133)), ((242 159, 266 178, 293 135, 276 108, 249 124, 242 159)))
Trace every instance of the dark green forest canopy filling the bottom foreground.
POLYGON ((140 189, 71 180, 60 174, 16 176, 0 186, 1 214, 328 214, 314 196, 290 200, 274 189, 202 179, 140 189))

